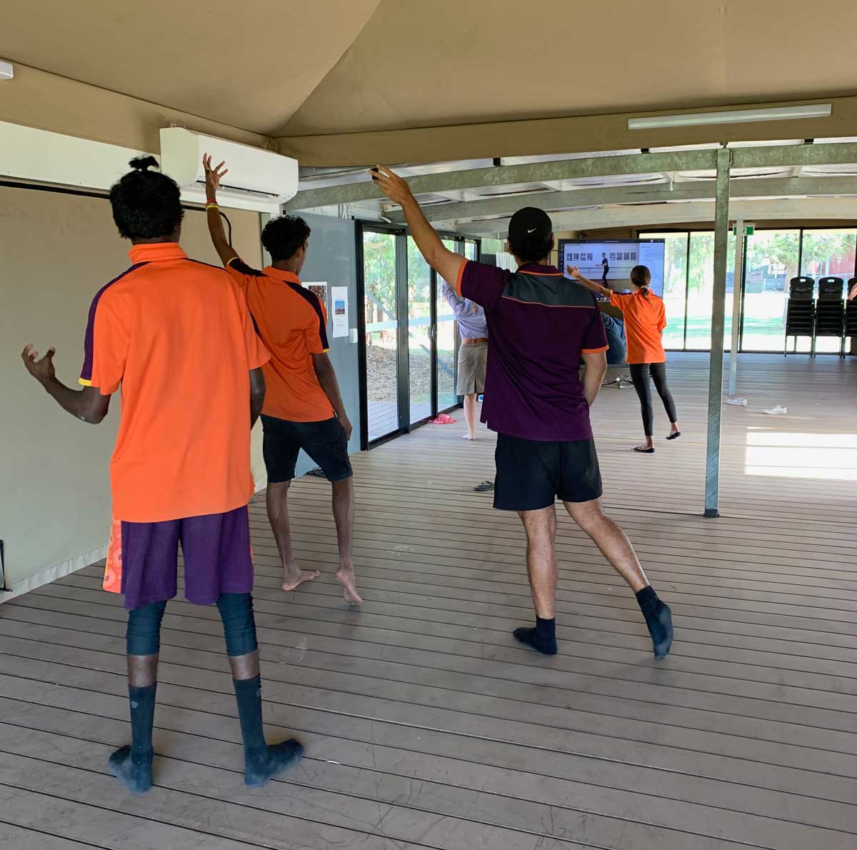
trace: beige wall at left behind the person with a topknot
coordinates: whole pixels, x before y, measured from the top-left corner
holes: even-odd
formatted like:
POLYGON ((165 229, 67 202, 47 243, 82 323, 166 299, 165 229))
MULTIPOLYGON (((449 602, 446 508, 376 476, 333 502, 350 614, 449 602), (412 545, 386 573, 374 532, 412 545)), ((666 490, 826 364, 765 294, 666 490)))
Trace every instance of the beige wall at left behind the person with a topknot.
MULTIPOLYGON (((258 214, 227 214, 237 250, 258 262, 258 214)), ((204 213, 185 214, 182 244, 218 262, 204 213)), ((77 422, 30 378, 21 350, 55 346, 58 377, 77 386, 89 304, 127 268, 128 248, 104 198, 0 186, 0 537, 6 586, 19 592, 101 557, 119 414, 115 397, 101 425, 77 422)), ((263 486, 260 434, 253 464, 263 486)))

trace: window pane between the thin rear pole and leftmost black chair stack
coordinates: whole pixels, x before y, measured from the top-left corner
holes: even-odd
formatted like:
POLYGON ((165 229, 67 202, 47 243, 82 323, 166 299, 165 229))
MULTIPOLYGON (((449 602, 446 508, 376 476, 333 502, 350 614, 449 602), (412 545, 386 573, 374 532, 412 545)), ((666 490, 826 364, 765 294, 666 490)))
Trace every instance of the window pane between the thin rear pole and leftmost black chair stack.
MULTIPOLYGON (((744 272, 745 351, 782 351, 789 281, 797 276, 800 230, 757 230, 747 236, 744 272)), ((809 350, 800 338, 798 350, 809 350)))

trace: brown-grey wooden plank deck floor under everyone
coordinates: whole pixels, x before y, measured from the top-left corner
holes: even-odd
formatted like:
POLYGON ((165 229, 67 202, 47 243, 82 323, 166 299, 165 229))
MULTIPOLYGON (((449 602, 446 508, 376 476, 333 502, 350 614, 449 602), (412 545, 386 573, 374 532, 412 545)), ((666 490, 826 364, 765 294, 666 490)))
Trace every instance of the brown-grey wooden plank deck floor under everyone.
POLYGON ((857 847, 857 363, 742 372, 718 520, 698 516, 702 358, 672 359, 686 436, 654 456, 629 452, 633 390, 596 406, 605 501, 674 607, 664 663, 567 518, 560 655, 518 649, 518 520, 471 489, 493 476, 493 440, 421 428, 355 458, 360 612, 333 582, 325 482, 293 491, 297 554, 324 571, 295 594, 252 506, 268 731, 308 747, 267 788, 241 783, 216 611, 168 608, 157 787, 132 798, 105 770, 129 729, 125 617, 99 570, 0 607, 0 847, 857 847), (758 413, 777 403, 788 416, 758 413))

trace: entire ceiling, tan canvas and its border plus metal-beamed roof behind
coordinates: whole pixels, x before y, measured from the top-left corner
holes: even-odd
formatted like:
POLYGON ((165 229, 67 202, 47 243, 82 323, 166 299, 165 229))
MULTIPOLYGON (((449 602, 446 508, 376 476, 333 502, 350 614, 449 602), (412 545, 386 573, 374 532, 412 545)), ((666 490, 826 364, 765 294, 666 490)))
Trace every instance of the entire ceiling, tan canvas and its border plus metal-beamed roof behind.
MULTIPOLYGON (((485 168, 497 157, 514 165, 641 147, 857 135, 857 76, 848 42, 857 30, 857 3, 843 0, 7 5, 0 57, 17 63, 21 73, 0 83, 0 120, 139 150, 156 151, 158 129, 176 122, 274 147, 302 165, 381 159, 406 163, 400 170, 417 176, 485 168), (648 135, 630 132, 626 121, 647 111, 813 99, 834 104, 830 119, 648 135)), ((734 178, 830 180, 838 170, 854 180, 855 169, 774 168, 734 178)), ((302 172, 301 189, 368 179, 365 170, 348 167, 302 172)), ((685 203, 690 211, 704 204, 686 187, 711 177, 674 171, 528 181, 427 193, 420 200, 448 207, 438 213, 439 222, 487 232, 505 224, 504 197, 512 208, 540 195, 539 202, 552 203, 554 214, 569 222, 616 207, 641 216, 641 204, 651 214, 666 214, 656 206, 677 210, 685 203), (622 187, 634 184, 650 187, 648 201, 638 189, 622 200, 622 187), (674 186, 680 193, 664 201, 664 187, 672 192, 674 186), (599 188, 620 200, 567 197, 599 188), (490 199, 490 212, 466 206, 490 199)), ((777 183, 772 195, 790 192, 791 185, 806 196, 806 183, 777 183)), ((842 188, 853 194, 852 183, 842 188)), ((375 218, 397 214, 381 201, 352 211, 375 218)))

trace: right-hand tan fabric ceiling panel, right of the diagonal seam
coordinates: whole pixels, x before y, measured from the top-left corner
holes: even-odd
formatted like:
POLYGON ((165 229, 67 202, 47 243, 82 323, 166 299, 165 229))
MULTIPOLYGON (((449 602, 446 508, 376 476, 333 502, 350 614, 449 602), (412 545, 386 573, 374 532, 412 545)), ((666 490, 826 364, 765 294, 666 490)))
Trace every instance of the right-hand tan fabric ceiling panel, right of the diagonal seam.
POLYGON ((834 26, 857 3, 384 0, 279 135, 855 93, 834 26))

